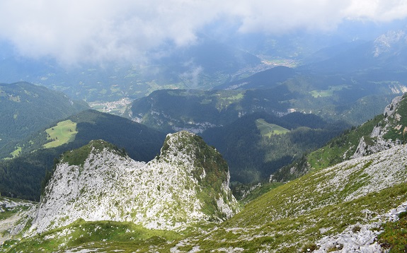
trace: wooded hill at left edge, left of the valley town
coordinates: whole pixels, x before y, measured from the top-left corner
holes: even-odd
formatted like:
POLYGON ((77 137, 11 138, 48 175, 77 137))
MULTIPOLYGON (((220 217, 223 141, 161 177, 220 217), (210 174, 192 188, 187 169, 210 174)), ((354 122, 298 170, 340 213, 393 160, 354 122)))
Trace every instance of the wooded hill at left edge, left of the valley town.
POLYGON ((86 102, 25 82, 0 83, 0 107, 0 148, 89 108, 86 102))

